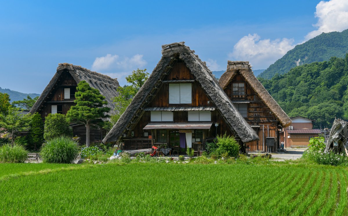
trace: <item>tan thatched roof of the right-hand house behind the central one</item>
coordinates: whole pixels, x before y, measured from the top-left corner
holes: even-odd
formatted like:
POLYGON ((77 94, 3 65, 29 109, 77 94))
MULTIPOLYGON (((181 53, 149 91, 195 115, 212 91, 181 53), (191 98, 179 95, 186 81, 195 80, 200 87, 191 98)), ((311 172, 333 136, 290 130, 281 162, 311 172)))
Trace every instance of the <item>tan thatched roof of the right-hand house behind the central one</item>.
POLYGON ((263 87, 260 81, 255 77, 254 72, 251 70, 248 61, 228 61, 227 70, 220 77, 219 84, 222 89, 225 89, 233 77, 240 73, 245 80, 250 84, 251 88, 259 94, 261 100, 268 106, 268 108, 279 119, 280 124, 283 127, 291 124, 291 119, 286 115, 284 110, 279 104, 272 98, 268 91, 263 87))

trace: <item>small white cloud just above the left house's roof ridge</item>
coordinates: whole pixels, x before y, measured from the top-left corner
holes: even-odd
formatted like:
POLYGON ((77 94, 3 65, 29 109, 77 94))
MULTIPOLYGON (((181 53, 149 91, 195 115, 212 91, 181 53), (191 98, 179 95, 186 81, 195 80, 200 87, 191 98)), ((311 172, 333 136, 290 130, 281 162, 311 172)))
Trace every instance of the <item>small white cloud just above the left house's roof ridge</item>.
MULTIPOLYGON (((144 55, 136 54, 133 57, 119 57, 118 55, 107 54, 103 57, 96 57, 93 70, 133 70, 142 68, 147 64, 143 59, 144 55)), ((130 72, 129 72, 130 73, 130 72)))

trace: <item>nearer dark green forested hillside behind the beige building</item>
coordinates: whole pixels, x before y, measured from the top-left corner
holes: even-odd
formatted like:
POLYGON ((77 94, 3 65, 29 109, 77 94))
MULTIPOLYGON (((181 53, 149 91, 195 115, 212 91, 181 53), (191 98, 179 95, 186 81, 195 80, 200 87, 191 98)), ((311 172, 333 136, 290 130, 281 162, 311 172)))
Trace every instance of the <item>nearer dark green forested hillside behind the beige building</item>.
POLYGON ((348 118, 348 55, 259 80, 290 117, 314 119, 316 128, 320 123, 330 128, 335 117, 348 118))

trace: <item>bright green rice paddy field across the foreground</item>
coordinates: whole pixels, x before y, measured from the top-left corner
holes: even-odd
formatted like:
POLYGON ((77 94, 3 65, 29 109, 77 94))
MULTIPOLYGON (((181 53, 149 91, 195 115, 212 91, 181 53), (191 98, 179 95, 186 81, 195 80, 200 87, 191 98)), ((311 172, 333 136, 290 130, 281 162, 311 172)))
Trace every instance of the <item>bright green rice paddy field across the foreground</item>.
POLYGON ((348 215, 343 167, 131 163, 0 168, 1 215, 348 215))

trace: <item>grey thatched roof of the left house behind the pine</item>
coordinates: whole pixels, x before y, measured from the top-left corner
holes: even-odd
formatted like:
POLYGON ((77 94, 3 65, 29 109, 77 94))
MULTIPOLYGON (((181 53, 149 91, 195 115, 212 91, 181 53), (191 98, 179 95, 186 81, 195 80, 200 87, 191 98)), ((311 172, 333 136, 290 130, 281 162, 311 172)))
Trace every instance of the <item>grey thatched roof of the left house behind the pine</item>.
POLYGON ((112 115, 115 113, 112 98, 118 95, 118 92, 116 90, 117 87, 119 87, 120 85, 118 84, 117 79, 88 70, 81 66, 76 66, 68 63, 58 64, 57 73, 48 83, 45 90, 40 95, 40 98, 35 102, 34 106, 30 110, 30 113, 37 112, 40 109, 40 107, 44 105, 45 99, 47 97, 50 97, 50 92, 53 90, 59 77, 64 71, 69 72, 76 81, 76 83, 79 83, 81 80, 84 80, 92 88, 98 89, 100 93, 105 97, 105 100, 108 101, 107 106, 111 108, 109 114, 112 115))

